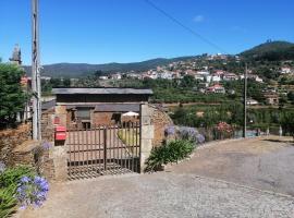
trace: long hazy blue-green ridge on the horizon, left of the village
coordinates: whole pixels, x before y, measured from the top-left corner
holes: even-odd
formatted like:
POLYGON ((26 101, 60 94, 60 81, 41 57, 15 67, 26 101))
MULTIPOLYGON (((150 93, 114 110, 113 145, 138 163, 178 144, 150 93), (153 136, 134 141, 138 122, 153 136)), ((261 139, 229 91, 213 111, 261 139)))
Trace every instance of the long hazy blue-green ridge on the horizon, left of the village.
MULTIPOLYGON (((103 71, 106 73, 126 72, 126 71, 146 71, 158 65, 164 65, 174 61, 184 61, 195 57, 180 57, 173 59, 152 59, 134 63, 106 63, 106 64, 87 64, 87 63, 56 63, 44 65, 42 75, 51 77, 79 77, 103 71)), ((25 71, 30 74, 30 66, 25 66, 25 71)))

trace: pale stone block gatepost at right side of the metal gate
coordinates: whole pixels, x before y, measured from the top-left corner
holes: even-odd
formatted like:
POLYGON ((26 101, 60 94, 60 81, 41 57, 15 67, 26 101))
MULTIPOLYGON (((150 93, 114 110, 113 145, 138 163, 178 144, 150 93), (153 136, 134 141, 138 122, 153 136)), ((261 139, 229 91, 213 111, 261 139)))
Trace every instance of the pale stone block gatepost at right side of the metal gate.
POLYGON ((154 108, 148 105, 140 106, 140 172, 146 168, 146 160, 148 159, 152 149, 152 141, 155 137, 155 126, 152 124, 154 108))

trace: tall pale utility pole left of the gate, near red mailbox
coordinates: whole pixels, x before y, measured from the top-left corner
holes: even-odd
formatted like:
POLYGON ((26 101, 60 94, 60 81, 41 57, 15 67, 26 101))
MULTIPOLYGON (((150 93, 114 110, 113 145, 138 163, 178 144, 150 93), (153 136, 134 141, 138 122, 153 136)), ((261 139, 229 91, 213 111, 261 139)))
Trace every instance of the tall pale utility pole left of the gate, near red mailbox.
POLYGON ((41 140, 40 120, 40 56, 39 56, 39 1, 32 0, 32 90, 33 90, 33 140, 41 140))

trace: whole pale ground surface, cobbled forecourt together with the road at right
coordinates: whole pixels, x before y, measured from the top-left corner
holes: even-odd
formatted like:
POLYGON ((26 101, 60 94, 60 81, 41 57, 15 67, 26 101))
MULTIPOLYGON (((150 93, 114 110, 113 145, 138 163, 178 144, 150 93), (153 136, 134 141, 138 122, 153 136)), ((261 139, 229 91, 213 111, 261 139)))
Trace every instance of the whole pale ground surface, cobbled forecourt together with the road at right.
POLYGON ((274 182, 280 177, 278 191, 289 192, 294 184, 286 177, 293 177, 294 160, 287 156, 292 148, 289 143, 262 140, 225 142, 197 150, 191 160, 172 167, 170 172, 53 184, 40 209, 25 210, 19 217, 294 218, 294 198, 289 195, 197 175, 269 190, 272 185, 265 181, 270 173, 274 182), (260 158, 261 164, 253 161, 255 158, 260 158), (260 177, 256 165, 261 168, 260 177))

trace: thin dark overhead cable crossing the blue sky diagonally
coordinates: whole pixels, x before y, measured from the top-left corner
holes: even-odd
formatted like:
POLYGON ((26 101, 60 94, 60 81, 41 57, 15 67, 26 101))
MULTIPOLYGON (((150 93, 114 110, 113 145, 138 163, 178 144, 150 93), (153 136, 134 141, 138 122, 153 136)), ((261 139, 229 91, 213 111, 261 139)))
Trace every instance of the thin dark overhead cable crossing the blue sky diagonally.
POLYGON ((169 20, 171 20, 172 22, 176 23, 179 26, 181 26, 182 28, 184 28, 185 31, 187 31, 188 33, 191 33, 192 35, 196 36, 197 38, 199 38, 203 41, 205 41, 206 44, 208 44, 209 46, 216 48, 219 51, 222 51, 223 53, 228 53, 220 46, 218 46, 217 44, 215 44, 211 40, 207 39, 206 37, 201 36, 200 34, 198 34, 197 32, 195 32, 191 27, 186 26, 185 24, 183 24, 182 22, 180 22, 177 19, 175 19, 174 16, 172 16, 171 14, 169 14, 167 11, 164 11, 163 9, 160 9, 158 5, 156 5, 150 0, 144 0, 144 1, 146 3, 148 3, 150 7, 152 7, 154 9, 156 9, 157 11, 159 11, 161 14, 163 14, 164 16, 167 16, 169 20))

